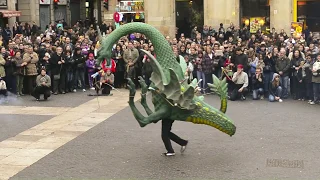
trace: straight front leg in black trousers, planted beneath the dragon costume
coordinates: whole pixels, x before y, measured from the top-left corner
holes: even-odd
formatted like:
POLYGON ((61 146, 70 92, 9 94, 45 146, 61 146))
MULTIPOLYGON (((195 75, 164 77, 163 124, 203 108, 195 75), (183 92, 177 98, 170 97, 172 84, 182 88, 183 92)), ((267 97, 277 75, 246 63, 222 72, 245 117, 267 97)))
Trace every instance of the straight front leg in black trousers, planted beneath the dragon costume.
POLYGON ((164 146, 167 149, 167 153, 174 153, 174 150, 170 141, 170 131, 172 127, 173 120, 163 119, 162 120, 162 130, 161 130, 161 138, 164 143, 164 146))

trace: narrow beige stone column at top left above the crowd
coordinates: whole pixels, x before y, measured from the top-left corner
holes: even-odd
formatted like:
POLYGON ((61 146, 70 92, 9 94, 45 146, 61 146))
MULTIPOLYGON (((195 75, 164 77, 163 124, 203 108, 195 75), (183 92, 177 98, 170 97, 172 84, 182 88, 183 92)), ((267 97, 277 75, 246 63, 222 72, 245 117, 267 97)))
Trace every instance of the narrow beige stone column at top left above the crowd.
POLYGON ((19 11, 21 11, 21 22, 35 22, 40 24, 39 21, 39 0, 18 1, 19 11))

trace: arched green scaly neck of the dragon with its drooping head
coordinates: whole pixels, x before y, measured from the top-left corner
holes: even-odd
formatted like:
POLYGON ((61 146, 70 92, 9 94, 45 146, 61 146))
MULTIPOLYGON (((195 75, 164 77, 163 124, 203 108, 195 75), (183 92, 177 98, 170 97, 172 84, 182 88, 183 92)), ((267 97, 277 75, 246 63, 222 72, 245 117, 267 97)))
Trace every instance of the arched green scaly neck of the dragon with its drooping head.
POLYGON ((156 28, 145 23, 128 23, 113 31, 107 38, 103 40, 101 49, 102 52, 98 58, 98 61, 101 62, 104 58, 109 61, 111 57, 108 56, 111 55, 113 45, 117 43, 121 37, 131 33, 144 34, 152 42, 155 54, 157 56, 157 61, 165 72, 169 68, 172 68, 176 71, 180 80, 184 78, 180 64, 177 62, 176 56, 174 55, 168 41, 156 28))

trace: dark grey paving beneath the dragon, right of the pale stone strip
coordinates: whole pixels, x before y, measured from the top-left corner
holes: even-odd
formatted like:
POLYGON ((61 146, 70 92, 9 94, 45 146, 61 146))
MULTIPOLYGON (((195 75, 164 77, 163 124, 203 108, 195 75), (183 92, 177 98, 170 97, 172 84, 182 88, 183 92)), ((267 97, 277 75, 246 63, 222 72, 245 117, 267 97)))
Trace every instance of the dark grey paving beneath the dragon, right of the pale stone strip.
MULTIPOLYGON (((206 101, 220 106, 215 96, 206 101)), ((161 156, 161 123, 140 128, 125 108, 11 179, 316 180, 319 108, 292 100, 229 102, 236 134, 176 121, 173 132, 190 143, 183 155, 173 144, 175 157, 161 156)))

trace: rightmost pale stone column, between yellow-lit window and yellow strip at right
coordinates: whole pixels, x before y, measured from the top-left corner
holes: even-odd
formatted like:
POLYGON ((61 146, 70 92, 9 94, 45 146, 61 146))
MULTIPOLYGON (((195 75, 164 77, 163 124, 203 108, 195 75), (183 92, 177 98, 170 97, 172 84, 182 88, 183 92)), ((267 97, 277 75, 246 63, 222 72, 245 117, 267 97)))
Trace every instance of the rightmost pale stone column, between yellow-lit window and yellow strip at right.
POLYGON ((290 34, 292 22, 292 0, 270 0, 270 28, 281 29, 290 34))

